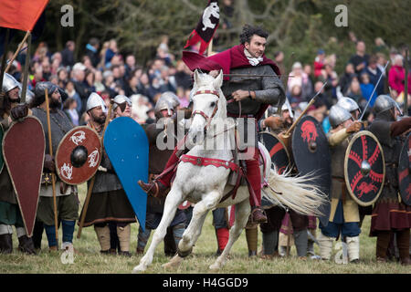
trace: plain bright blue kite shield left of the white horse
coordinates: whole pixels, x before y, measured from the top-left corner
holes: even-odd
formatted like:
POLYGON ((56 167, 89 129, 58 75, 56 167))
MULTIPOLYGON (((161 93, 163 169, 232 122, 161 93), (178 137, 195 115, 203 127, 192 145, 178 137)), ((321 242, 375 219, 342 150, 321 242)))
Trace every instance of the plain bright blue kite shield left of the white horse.
POLYGON ((107 126, 104 148, 132 204, 132 210, 142 230, 145 230, 147 193, 137 184, 139 180, 148 181, 149 143, 145 131, 132 118, 116 118, 107 126))

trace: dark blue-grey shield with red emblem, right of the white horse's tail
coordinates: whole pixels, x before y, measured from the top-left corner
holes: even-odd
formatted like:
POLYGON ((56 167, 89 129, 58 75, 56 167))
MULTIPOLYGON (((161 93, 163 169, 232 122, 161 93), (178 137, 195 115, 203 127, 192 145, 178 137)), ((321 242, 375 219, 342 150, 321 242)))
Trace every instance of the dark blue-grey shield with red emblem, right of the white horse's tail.
MULTIPOLYGON (((300 175, 310 175, 309 183, 320 188, 322 193, 331 195, 331 153, 328 140, 321 124, 311 116, 300 119, 292 132, 291 141, 294 162, 300 175)), ((330 200, 331 201, 331 200, 330 200)), ((326 226, 331 212, 331 203, 321 204, 319 217, 326 226)))

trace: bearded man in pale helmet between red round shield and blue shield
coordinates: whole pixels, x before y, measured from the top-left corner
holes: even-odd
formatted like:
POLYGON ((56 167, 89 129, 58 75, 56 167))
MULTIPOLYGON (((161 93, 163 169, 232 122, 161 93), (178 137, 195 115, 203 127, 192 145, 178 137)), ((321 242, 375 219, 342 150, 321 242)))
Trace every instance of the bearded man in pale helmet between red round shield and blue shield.
MULTIPOLYGON (((114 112, 121 112, 121 104, 124 102, 122 99, 117 97, 117 105, 116 100, 114 100, 114 112)), ((127 103, 127 100, 125 102, 127 103)), ((127 109, 127 106, 128 104, 125 105, 124 110, 127 109)), ((104 123, 110 117, 107 116, 107 110, 100 95, 95 92, 90 94, 86 111, 90 116, 88 126, 96 130, 101 136, 104 123)), ((84 227, 94 225, 94 231, 100 243, 100 253, 110 254, 115 251, 110 250, 111 232, 109 223, 115 222, 121 249, 119 255, 131 256, 132 227, 130 224, 135 222, 135 214, 106 151, 103 150, 101 156, 99 171, 95 174, 95 182, 84 220, 84 227)))

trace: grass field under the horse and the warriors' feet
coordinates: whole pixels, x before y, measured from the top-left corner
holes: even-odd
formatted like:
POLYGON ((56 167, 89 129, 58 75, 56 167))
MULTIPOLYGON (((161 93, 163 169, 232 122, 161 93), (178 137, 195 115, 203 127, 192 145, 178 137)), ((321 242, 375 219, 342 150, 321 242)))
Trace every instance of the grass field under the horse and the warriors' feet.
MULTIPOLYGON (((84 202, 85 187, 79 188, 79 200, 84 202)), ((81 206, 80 206, 81 210, 81 206)), ((375 261, 375 237, 369 237, 370 216, 366 216, 363 232, 360 238, 359 264, 338 265, 334 262, 324 262, 307 259, 300 260, 296 256, 295 246, 291 249, 288 258, 275 258, 272 260, 260 259, 256 256, 248 258, 246 236, 243 232, 237 243, 233 246, 227 265, 219 272, 222 274, 411 274, 411 268, 401 266, 399 263, 377 264, 375 261)), ((100 245, 93 227, 84 228, 81 238, 77 239, 77 230, 74 234, 74 246, 79 254, 74 255, 72 264, 61 259, 62 252, 49 253, 47 251, 47 237, 43 234, 42 250, 38 255, 24 255, 15 251, 11 255, 0 255, 0 273, 14 274, 128 274, 136 266, 142 255, 135 255, 137 246, 138 224, 132 224, 132 257, 114 255, 100 255, 100 245)), ((153 233, 152 233, 153 236, 153 233)), ((59 230, 61 240, 61 229, 59 230)), ((16 233, 13 235, 14 245, 17 246, 16 233)), ((258 246, 261 245, 261 233, 258 230, 258 246)), ((149 242, 150 244, 150 242, 149 242)), ((148 247, 148 245, 147 245, 148 247)), ((147 248, 146 247, 146 248, 147 248)), ((192 255, 188 256, 183 264, 176 270, 164 270, 162 265, 168 262, 169 257, 163 255, 163 244, 159 245, 154 255, 153 265, 146 273, 162 274, 203 274, 210 273, 210 266, 216 259, 216 235, 212 226, 212 214, 209 213, 205 220, 202 235, 200 235, 192 255)), ((315 245, 315 252, 319 248, 315 245)), ((333 252, 333 255, 337 250, 333 252)), ((214 272, 213 272, 214 273, 214 272)))

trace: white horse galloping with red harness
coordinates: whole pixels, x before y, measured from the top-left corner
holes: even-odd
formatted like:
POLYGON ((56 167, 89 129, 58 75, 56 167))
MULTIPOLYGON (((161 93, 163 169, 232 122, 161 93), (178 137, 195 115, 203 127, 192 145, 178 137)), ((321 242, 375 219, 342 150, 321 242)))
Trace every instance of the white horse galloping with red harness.
MULTIPOLYGON (((222 133, 234 135, 234 127, 222 130, 221 124, 223 123, 221 121, 230 120, 234 124, 234 120, 227 118, 227 102, 221 90, 223 72, 220 71, 220 74, 213 78, 208 74, 199 73, 195 70, 194 78, 193 120, 188 131, 188 137, 203 133, 205 130, 216 129, 212 132, 211 137, 214 138, 218 150, 208 150, 203 147, 204 145, 195 145, 187 154, 228 162, 233 159, 230 150, 232 145, 230 145, 230 140, 223 141, 225 135, 222 133), (218 148, 218 144, 223 145, 223 147, 218 148)), ((209 132, 207 136, 210 136, 209 132)), ((264 147, 261 154, 266 157, 266 164, 270 166, 269 152, 264 147)), ((246 185, 241 185, 238 188, 234 199, 230 196, 220 203, 224 194, 233 188, 233 186, 227 185, 229 173, 230 170, 225 167, 215 165, 199 166, 191 162, 179 162, 174 183, 165 200, 163 218, 154 232, 147 253, 142 257, 140 265, 134 267, 133 273, 144 271, 151 265, 156 246, 163 240, 166 228, 171 224, 178 205, 185 200, 195 203, 193 217, 178 244, 177 255, 174 255, 170 262, 163 266, 178 266, 184 258, 182 256, 191 253, 193 245, 195 245, 201 234, 205 216, 209 210, 235 204, 235 224, 230 229, 227 246, 223 253, 218 256, 216 262, 209 268, 218 270, 226 263, 227 255, 241 231, 245 228, 251 210, 246 185)), ((269 202, 283 207, 290 207, 290 209, 300 214, 321 215, 318 207, 326 200, 325 196, 318 188, 307 183, 307 177, 291 177, 288 176, 288 173, 280 175, 270 167, 266 168, 264 174, 269 185, 263 187, 261 191, 269 202), (273 188, 275 188, 275 192, 273 188)))

